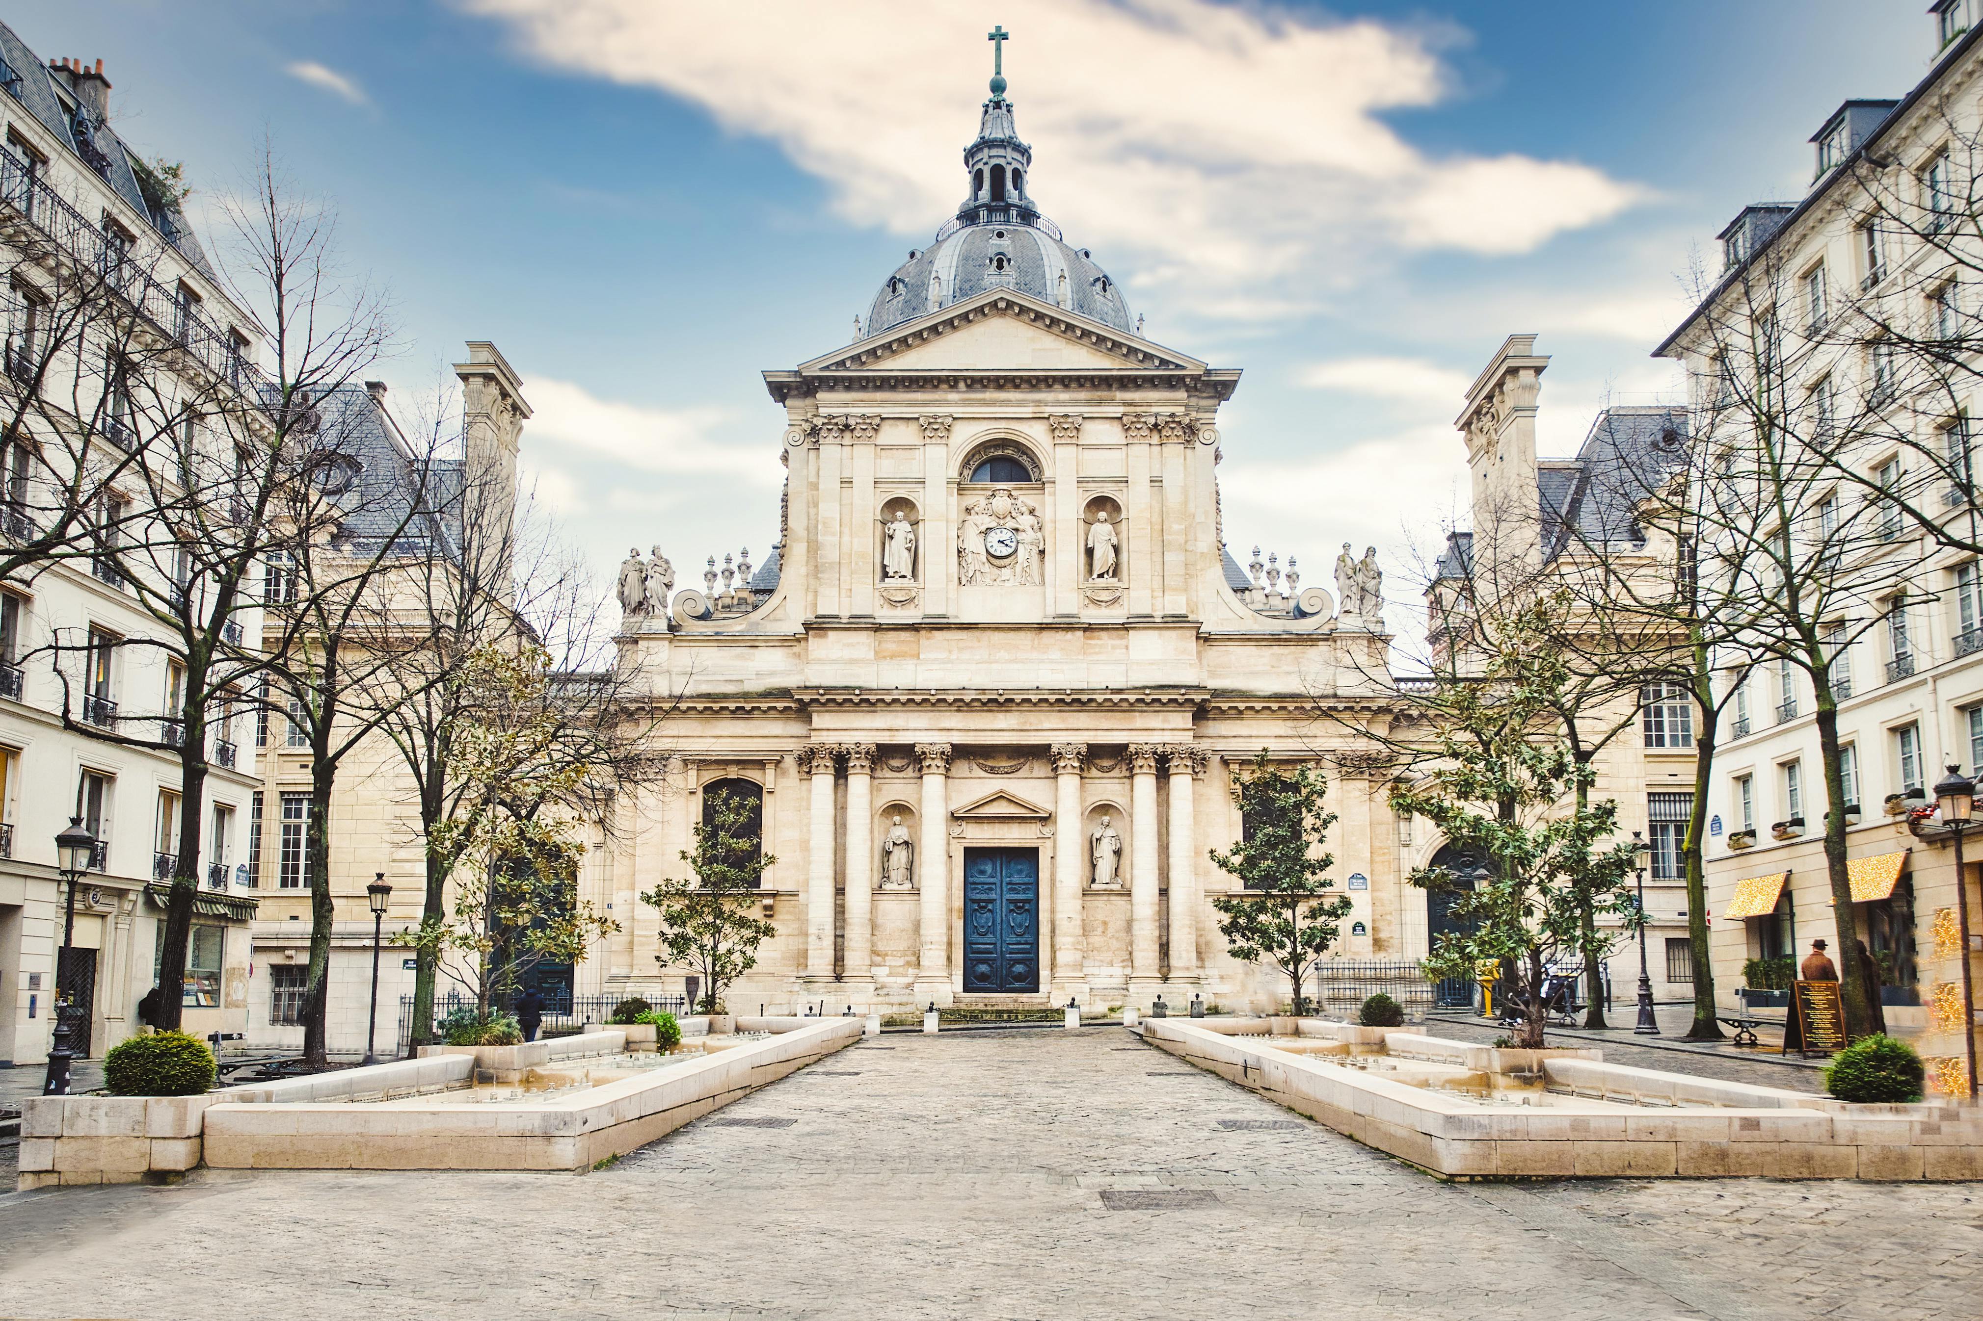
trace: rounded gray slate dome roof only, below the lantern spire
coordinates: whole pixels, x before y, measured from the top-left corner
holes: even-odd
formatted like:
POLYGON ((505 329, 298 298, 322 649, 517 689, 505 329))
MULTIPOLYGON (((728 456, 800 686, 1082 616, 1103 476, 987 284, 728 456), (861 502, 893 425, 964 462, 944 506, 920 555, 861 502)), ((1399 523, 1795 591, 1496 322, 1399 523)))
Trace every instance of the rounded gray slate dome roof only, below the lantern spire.
POLYGON ((1116 331, 1134 329, 1136 319, 1108 271, 1095 265, 1087 250, 1069 248, 1039 228, 1037 220, 944 228, 950 232, 932 248, 912 252, 875 295, 869 335, 988 289, 1017 289, 1116 331))

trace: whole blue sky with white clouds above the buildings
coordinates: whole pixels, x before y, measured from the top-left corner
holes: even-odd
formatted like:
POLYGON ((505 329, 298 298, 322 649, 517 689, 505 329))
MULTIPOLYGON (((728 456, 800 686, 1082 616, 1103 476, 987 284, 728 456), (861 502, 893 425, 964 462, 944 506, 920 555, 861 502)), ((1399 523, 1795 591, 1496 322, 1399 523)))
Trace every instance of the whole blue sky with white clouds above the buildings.
MULTIPOLYGON (((391 293, 395 404, 494 341, 524 471, 601 580, 684 586, 777 531, 759 372, 855 337, 966 194, 1003 26, 1029 192, 1148 339, 1245 370, 1225 531, 1392 594, 1463 523, 1454 418, 1511 333, 1541 450, 1678 400, 1650 356, 1745 204, 1795 200, 1848 97, 1925 73, 1925 0, 10 0, 103 59, 111 121, 198 224, 264 135, 391 293)), ((208 226, 210 232, 210 226, 208 226)))

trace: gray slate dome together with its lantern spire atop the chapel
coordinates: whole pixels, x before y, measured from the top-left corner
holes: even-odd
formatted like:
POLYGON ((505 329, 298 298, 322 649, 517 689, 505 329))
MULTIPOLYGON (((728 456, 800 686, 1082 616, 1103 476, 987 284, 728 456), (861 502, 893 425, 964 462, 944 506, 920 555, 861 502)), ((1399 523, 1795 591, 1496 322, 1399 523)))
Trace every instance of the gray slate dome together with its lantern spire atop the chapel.
POLYGON ((1005 79, 993 77, 978 141, 964 149, 970 196, 875 295, 867 335, 914 321, 978 297, 988 289, 1017 289, 1041 303, 1134 333, 1122 291, 1083 248, 1061 242, 1061 230, 1033 206, 1033 149, 1019 141, 1005 79))

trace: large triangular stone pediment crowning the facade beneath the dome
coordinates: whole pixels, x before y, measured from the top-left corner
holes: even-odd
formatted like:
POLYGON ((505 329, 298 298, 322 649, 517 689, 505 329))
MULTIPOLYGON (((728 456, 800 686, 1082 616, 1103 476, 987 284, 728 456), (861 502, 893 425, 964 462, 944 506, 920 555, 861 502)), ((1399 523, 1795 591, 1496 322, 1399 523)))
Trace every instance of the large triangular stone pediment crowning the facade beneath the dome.
POLYGON ((1204 372, 1206 364, 1065 307, 1043 303, 1029 293, 988 289, 859 345, 813 358, 799 370, 1204 372))

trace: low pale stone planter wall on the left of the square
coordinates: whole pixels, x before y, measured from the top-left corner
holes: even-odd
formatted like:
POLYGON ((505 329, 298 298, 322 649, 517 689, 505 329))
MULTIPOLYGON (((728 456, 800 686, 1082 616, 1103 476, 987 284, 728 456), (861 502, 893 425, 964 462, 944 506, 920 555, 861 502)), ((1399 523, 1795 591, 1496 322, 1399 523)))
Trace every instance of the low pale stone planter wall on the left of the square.
MULTIPOLYGON (((539 1064, 613 1052, 597 1050, 599 1042, 557 1038, 527 1046, 442 1048, 420 1060, 198 1097, 32 1097, 22 1113, 18 1186, 171 1180, 202 1163, 216 1169, 583 1170, 855 1044, 863 1024, 859 1018, 785 1018, 777 1026, 744 1030, 773 1036, 646 1077, 543 1101, 448 1103, 446 1091, 472 1079, 482 1064, 480 1050, 565 1044, 561 1054, 543 1052, 539 1064), (436 1093, 432 1103, 353 1103, 426 1091, 436 1093)), ((623 1040, 619 1030, 587 1036, 615 1038, 615 1052, 623 1040)))

